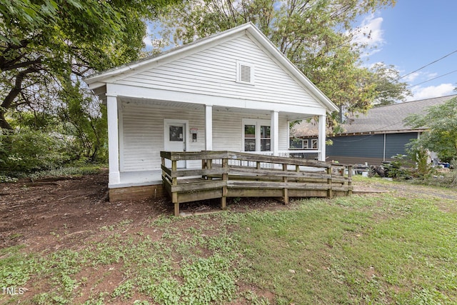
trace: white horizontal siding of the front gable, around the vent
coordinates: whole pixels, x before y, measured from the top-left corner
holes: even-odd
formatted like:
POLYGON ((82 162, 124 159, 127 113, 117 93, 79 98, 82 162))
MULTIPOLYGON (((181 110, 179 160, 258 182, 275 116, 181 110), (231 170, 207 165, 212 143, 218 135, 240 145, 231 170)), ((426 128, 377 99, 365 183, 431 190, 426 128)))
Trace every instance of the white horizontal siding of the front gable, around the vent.
POLYGON ((322 108, 248 36, 127 76, 115 83, 322 108), (253 64, 254 85, 236 82, 236 61, 253 64))

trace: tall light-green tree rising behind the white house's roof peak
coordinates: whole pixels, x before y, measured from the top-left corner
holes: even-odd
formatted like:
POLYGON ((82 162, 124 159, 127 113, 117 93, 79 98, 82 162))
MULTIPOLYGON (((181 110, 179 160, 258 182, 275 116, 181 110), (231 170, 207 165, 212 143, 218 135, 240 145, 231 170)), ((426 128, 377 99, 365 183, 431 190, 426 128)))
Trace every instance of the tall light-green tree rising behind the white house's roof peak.
MULTIPOLYGON (((358 32, 353 31, 352 22, 361 14, 394 3, 394 0, 186 1, 161 14, 161 39, 172 36, 175 44, 185 44, 251 21, 335 104, 344 106, 346 111, 366 111, 383 89, 381 80, 388 78, 381 74, 375 77, 376 73, 361 64, 365 46, 353 40, 358 32)), ((404 87, 398 89, 401 88, 404 87)), ((388 93, 383 99, 387 97, 388 93)))

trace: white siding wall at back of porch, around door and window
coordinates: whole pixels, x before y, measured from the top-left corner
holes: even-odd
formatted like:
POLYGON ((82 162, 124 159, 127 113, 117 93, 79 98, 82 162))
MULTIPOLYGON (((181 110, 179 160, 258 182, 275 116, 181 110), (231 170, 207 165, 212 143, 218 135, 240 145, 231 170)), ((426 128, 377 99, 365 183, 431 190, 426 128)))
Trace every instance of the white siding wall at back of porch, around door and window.
MULTIPOLYGON (((122 103, 120 113, 120 159, 121 171, 150 171, 160 169, 160 151, 164 150, 164 119, 189 120, 189 128, 199 129, 197 142, 187 134, 189 151, 205 149, 204 107, 185 109, 172 106, 159 106, 147 102, 122 103)), ((213 110, 213 149, 241 151, 243 149, 243 119, 269 120, 269 114, 249 114, 213 110)), ((279 117, 279 149, 288 148, 288 123, 279 117)), ((189 162, 188 167, 201 163, 189 162)))

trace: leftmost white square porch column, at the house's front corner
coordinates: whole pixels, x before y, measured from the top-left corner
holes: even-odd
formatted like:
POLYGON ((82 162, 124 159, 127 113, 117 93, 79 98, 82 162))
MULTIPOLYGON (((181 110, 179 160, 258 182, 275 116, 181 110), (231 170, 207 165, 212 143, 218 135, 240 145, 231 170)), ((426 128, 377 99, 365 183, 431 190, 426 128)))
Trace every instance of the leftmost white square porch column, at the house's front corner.
POLYGON ((120 184, 119 174, 119 121, 116 96, 106 96, 106 112, 108 116, 108 162, 109 185, 120 184))

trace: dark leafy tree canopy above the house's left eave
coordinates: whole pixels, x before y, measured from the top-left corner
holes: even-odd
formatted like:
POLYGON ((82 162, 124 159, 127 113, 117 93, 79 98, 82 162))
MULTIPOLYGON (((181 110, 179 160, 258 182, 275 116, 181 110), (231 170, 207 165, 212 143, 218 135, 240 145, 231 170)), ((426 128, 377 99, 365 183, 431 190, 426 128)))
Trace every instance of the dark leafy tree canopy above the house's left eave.
POLYGON ((138 59, 144 19, 171 1, 0 0, 0 128, 53 109, 62 82, 138 59))

